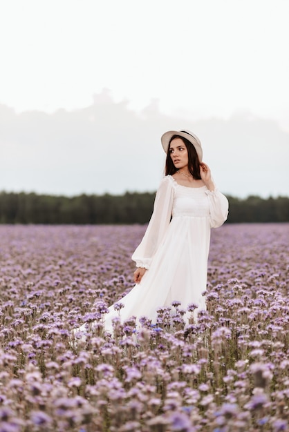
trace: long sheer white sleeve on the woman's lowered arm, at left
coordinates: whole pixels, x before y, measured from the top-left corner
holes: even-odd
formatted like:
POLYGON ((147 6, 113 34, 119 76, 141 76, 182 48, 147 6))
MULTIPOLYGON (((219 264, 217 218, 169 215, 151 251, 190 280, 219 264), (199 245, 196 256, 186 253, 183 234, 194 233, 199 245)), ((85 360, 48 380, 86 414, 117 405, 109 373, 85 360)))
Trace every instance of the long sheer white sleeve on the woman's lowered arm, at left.
POLYGON ((145 235, 131 257, 136 262, 137 267, 149 268, 151 259, 156 253, 169 226, 173 200, 173 183, 169 177, 164 177, 156 193, 153 214, 151 215, 145 235))

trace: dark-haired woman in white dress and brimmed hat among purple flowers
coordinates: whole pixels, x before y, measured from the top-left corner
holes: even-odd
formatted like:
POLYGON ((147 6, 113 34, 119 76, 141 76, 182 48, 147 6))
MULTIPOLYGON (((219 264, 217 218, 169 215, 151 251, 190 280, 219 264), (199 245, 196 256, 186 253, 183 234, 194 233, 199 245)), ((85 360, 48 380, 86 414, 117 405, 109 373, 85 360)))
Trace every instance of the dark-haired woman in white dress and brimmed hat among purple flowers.
MULTIPOLYGON (((120 311, 109 307, 105 328, 112 320, 131 316, 156 322, 157 309, 196 304, 205 309, 202 293, 207 286, 210 228, 227 219, 227 198, 216 189, 209 167, 203 162, 201 141, 188 130, 165 132, 165 177, 160 183, 153 214, 142 242, 133 253, 134 286, 120 302, 120 311)), ((196 313, 196 311, 195 311, 196 313)), ((195 314, 196 315, 196 314, 195 314)), ((77 330, 85 330, 85 325, 77 330)))

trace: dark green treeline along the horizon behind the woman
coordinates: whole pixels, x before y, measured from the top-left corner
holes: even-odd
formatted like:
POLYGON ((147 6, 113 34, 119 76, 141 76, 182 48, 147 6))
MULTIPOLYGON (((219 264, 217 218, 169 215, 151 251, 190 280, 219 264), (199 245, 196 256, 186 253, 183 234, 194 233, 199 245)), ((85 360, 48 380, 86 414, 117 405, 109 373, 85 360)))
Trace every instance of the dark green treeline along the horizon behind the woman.
MULTIPOLYGON (((1 224, 146 224, 154 193, 76 197, 0 193, 1 224)), ((228 223, 289 222, 289 197, 228 197, 228 223)))

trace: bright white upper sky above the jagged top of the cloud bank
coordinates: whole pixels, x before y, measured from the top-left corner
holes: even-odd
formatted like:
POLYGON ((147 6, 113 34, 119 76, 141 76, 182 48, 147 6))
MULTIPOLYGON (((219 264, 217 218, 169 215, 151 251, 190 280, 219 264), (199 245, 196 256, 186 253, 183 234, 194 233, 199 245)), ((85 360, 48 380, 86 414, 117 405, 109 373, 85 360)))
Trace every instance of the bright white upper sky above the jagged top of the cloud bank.
POLYGON ((153 97, 167 114, 248 108, 289 130, 288 12, 283 0, 2 2, 1 102, 84 108, 107 87, 135 109, 153 97))

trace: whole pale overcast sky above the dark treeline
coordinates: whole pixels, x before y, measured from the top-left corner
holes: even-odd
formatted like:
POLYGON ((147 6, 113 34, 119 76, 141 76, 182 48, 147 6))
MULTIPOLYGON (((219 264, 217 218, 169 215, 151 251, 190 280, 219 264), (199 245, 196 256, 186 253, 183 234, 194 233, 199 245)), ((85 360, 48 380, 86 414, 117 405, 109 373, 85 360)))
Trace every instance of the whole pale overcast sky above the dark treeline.
POLYGON ((289 195, 287 0, 0 0, 0 190, 156 190, 189 129, 227 195, 289 195))

